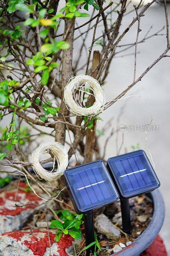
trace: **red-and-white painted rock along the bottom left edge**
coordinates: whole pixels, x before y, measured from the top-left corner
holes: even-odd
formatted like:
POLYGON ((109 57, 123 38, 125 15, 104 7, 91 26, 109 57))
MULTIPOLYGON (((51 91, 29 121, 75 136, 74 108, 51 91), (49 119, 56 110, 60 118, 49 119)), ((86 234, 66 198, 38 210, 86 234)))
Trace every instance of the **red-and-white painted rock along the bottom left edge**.
POLYGON ((55 242, 55 230, 35 229, 28 231, 12 231, 0 236, 0 256, 67 256, 66 249, 72 245, 74 238, 63 235, 55 242), (49 249, 50 239, 50 249, 49 249))

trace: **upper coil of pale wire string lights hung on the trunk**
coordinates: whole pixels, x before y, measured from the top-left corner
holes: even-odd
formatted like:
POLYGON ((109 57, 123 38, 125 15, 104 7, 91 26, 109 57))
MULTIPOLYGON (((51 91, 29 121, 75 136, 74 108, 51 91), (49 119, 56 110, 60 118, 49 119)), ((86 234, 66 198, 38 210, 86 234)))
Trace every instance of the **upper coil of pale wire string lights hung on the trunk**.
POLYGON ((92 76, 79 75, 71 77, 68 84, 64 88, 64 102, 68 110, 78 116, 93 116, 99 112, 103 112, 105 97, 99 82, 92 76), (88 85, 88 87, 86 87, 88 85), (89 92, 85 91, 89 89, 89 92), (90 93, 90 90, 93 92, 90 93), (76 100, 75 91, 78 92, 76 100), (87 108, 84 102, 84 94, 92 94, 95 97, 94 104, 87 108), (81 99, 80 99, 81 98, 81 99))

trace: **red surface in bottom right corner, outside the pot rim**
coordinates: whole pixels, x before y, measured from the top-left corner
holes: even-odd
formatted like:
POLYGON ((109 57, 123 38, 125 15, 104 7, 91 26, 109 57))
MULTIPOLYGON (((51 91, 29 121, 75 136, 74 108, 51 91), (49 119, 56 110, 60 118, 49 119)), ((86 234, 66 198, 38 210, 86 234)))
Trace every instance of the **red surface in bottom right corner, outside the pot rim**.
POLYGON ((153 243, 142 252, 141 256, 167 256, 166 248, 160 236, 157 236, 153 243))

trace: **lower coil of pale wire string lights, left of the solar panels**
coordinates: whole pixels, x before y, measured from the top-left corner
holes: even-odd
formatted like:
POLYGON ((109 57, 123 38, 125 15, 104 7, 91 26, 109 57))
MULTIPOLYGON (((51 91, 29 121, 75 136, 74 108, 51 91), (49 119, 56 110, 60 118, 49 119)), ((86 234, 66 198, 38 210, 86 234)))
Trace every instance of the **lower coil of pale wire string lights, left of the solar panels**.
POLYGON ((36 175, 39 174, 40 177, 46 181, 59 179, 63 175, 69 163, 67 150, 59 142, 47 142, 40 144, 40 146, 33 151, 31 159, 33 162, 33 170, 36 173, 36 175), (53 167, 52 171, 47 171, 41 166, 39 162, 41 157, 49 152, 51 152, 54 155, 54 164, 55 159, 57 160, 57 170, 54 170, 53 167))

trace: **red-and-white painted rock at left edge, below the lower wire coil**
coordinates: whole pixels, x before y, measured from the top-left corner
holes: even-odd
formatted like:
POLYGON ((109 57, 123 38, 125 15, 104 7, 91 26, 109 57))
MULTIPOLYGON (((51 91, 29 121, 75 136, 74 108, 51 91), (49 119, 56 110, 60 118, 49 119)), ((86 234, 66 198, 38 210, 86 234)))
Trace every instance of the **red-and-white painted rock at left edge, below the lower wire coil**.
POLYGON ((27 187, 26 183, 21 182, 19 186, 23 190, 18 190, 16 200, 17 187, 0 193, 0 234, 20 229, 33 215, 35 207, 43 202, 33 192, 24 192, 24 188, 27 187), (26 206, 14 207, 15 204, 26 206))

